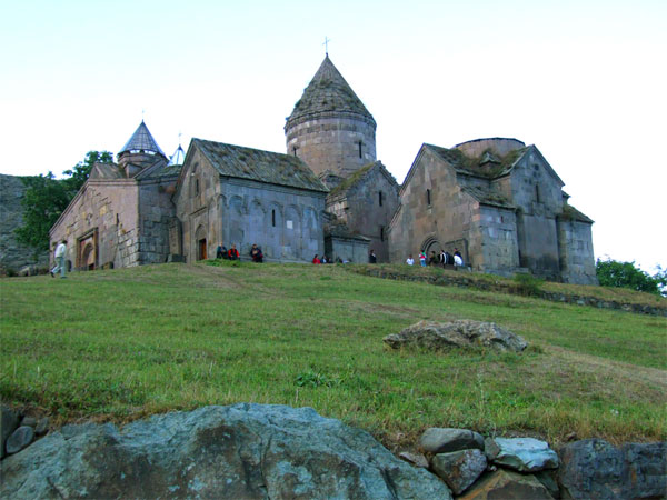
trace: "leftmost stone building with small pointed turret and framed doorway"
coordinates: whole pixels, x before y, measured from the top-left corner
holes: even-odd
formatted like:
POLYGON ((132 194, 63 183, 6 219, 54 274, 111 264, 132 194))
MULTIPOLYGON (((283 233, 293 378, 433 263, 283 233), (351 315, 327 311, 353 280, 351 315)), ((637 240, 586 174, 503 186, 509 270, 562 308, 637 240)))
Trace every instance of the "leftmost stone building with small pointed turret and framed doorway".
POLYGON ((74 270, 166 262, 179 172, 142 121, 118 163, 93 166, 51 228, 51 247, 67 240, 74 270))

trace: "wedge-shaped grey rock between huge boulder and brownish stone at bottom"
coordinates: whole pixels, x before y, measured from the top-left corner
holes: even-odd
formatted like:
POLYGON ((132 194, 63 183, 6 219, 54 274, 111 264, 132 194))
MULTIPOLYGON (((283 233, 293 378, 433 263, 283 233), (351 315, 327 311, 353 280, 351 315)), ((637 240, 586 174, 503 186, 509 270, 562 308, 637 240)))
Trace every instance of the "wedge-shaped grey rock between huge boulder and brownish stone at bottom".
POLYGON ((454 494, 461 494, 481 476, 487 466, 480 450, 462 450, 438 453, 431 460, 434 471, 451 488, 454 494))

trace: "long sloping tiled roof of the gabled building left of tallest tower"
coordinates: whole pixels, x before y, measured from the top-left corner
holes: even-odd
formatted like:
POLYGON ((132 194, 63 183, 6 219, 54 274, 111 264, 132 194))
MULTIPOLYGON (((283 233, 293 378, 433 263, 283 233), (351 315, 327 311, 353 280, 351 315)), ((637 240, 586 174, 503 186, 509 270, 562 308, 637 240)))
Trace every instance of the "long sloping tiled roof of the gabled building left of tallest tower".
POLYGON ((192 139, 220 176, 327 192, 328 189, 297 157, 222 142, 192 139))

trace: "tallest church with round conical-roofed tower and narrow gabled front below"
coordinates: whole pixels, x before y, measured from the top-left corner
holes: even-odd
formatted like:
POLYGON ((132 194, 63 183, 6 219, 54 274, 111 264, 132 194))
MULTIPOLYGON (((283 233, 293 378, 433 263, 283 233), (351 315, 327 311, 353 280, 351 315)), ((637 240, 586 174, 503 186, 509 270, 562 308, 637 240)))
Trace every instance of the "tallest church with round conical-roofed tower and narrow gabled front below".
POLYGON ((329 56, 285 124, 287 152, 303 160, 331 190, 327 254, 365 262, 370 249, 389 260, 387 231, 398 184, 376 161, 376 121, 329 56), (364 256, 364 257, 361 257, 364 256))

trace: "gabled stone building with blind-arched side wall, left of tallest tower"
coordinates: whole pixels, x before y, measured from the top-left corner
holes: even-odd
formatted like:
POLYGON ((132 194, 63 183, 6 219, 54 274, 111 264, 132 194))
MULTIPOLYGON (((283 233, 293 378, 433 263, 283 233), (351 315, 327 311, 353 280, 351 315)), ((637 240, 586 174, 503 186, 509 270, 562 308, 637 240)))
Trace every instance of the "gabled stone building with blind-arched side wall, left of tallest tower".
POLYGON ((219 243, 242 256, 257 243, 268 260, 309 261, 325 251, 327 191, 293 156, 192 139, 173 197, 172 252, 191 262, 219 243))

